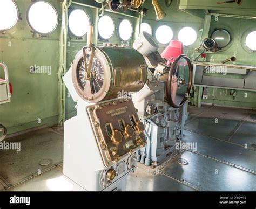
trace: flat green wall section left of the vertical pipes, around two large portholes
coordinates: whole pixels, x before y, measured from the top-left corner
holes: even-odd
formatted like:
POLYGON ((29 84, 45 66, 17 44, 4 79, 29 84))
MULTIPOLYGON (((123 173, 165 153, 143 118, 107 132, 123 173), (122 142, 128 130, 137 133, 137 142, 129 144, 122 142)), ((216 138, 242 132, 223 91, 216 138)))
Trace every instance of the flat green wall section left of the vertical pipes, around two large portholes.
MULTIPOLYGON (((61 2, 51 0, 59 19, 61 2)), ((8 134, 47 124, 58 124, 58 79, 61 21, 48 37, 39 37, 26 21, 31 1, 15 1, 19 19, 14 27, 0 34, 0 60, 9 68, 13 94, 11 102, 0 105, 0 124, 8 134), (31 66, 50 66, 51 74, 30 73, 31 66)), ((0 77, 3 78, 1 69, 0 77)))

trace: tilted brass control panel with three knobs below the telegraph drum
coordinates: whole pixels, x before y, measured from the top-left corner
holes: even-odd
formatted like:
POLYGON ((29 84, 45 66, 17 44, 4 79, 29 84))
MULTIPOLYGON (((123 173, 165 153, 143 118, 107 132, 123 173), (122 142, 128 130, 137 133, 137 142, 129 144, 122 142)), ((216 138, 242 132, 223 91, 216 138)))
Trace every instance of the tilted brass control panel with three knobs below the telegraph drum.
POLYGON ((106 167, 146 145, 144 124, 130 99, 92 105, 87 113, 106 167))

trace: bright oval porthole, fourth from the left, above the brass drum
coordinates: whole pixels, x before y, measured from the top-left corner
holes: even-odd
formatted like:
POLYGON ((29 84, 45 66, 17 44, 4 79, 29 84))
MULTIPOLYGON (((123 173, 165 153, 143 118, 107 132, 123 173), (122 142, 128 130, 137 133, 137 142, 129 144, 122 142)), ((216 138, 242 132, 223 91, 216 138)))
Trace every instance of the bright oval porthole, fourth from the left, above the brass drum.
POLYGON ((98 23, 98 31, 100 37, 103 39, 109 39, 114 33, 113 19, 107 15, 100 17, 98 23))

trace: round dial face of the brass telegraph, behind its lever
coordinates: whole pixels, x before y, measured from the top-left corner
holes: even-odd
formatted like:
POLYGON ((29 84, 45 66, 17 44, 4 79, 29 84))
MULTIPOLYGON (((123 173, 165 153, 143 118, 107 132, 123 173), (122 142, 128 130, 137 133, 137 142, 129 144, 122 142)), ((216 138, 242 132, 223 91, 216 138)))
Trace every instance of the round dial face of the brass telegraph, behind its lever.
MULTIPOLYGON (((90 56, 87 55, 86 57, 86 65, 89 65, 90 56)), ((100 88, 103 86, 104 82, 104 71, 102 64, 100 63, 99 59, 94 57, 92 61, 92 67, 91 67, 91 73, 92 73, 92 93, 95 94, 99 92, 100 88)), ((84 90, 85 84, 86 84, 86 75, 85 72, 85 65, 84 65, 84 58, 81 58, 77 65, 77 81, 81 89, 84 90)))

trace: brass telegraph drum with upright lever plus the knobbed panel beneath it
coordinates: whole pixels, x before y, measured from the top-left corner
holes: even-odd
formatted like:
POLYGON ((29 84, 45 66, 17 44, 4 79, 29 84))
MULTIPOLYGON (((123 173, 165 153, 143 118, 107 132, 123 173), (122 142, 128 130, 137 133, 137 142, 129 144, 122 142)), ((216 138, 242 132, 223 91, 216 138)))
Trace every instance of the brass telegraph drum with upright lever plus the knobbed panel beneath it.
MULTIPOLYGON (((144 124, 132 100, 118 95, 142 89, 147 66, 143 55, 132 48, 94 46, 92 29, 90 25, 87 45, 73 61, 72 81, 77 94, 87 102, 87 114, 108 167, 146 144, 144 124)), ((113 176, 110 173, 109 179, 113 176)))

